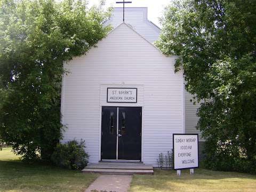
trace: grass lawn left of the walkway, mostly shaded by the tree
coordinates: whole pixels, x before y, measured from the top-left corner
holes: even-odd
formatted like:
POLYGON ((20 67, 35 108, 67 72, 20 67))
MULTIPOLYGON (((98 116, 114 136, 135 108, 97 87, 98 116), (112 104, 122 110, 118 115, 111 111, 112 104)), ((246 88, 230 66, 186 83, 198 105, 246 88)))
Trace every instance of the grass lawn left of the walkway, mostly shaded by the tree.
POLYGON ((0 151, 0 192, 81 192, 97 177, 49 165, 25 164, 10 148, 0 151))

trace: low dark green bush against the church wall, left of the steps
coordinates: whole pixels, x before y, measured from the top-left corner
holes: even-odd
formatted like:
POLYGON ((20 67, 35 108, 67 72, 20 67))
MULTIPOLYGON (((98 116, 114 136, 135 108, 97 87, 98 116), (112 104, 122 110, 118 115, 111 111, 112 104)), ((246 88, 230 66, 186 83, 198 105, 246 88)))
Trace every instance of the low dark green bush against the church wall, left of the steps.
POLYGON ((83 169, 88 163, 89 155, 85 153, 85 141, 78 143, 76 140, 59 143, 51 156, 52 162, 68 169, 83 169))

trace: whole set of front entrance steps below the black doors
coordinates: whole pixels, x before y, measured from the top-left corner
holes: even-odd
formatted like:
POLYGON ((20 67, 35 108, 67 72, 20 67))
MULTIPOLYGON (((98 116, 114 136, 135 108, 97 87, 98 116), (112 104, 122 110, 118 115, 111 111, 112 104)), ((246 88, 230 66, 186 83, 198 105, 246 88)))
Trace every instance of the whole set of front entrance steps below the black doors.
POLYGON ((133 175, 133 174, 154 174, 153 166, 143 163, 126 162, 99 162, 89 163, 83 173, 100 173, 114 175, 133 175))

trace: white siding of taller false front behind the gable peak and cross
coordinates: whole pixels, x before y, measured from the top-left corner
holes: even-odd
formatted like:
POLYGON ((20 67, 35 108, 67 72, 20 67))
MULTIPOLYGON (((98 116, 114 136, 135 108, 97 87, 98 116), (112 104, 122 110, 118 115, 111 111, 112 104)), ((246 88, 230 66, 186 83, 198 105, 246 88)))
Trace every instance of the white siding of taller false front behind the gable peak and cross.
MULTIPOLYGON (((150 22, 147 18, 147 7, 126 7, 125 22, 130 25, 137 33, 146 38, 150 43, 157 41, 160 29, 150 22)), ((106 24, 111 24, 116 28, 123 22, 123 8, 114 8, 112 17, 106 24)))

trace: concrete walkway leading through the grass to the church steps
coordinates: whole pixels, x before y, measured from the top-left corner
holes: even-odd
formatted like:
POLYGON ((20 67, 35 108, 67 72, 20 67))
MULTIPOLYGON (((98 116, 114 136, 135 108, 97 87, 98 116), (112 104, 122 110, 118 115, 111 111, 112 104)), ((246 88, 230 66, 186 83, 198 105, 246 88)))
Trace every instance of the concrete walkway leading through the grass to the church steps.
POLYGON ((132 175, 100 175, 86 190, 127 192, 132 175))

